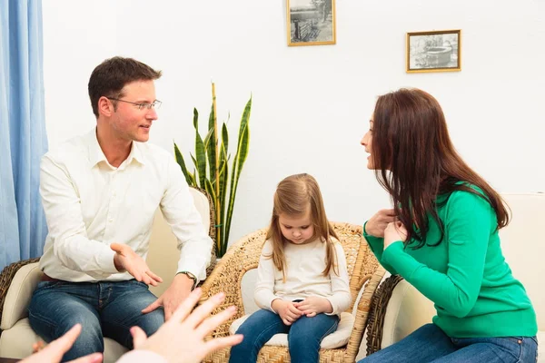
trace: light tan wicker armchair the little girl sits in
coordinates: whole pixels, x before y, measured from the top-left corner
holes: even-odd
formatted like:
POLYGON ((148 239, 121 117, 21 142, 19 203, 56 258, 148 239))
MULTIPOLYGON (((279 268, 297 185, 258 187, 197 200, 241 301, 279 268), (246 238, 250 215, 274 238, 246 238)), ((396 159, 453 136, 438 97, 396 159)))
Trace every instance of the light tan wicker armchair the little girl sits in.
MULTIPOLYGON (((384 276, 384 270, 375 259, 366 241, 362 238, 362 227, 348 223, 332 223, 334 231, 341 240, 346 254, 348 273, 350 276, 350 289, 352 291, 352 306, 347 310, 352 312, 356 301, 358 306, 355 312, 355 322, 352 335, 346 346, 334 349, 321 349, 320 362, 354 362, 362 342, 363 331, 367 323, 367 316, 371 304, 372 295, 384 276), (363 284, 367 282, 362 298, 357 297, 363 284)), ((237 241, 217 264, 213 273, 203 284, 202 301, 223 291, 225 300, 218 307, 217 313, 231 305, 238 310, 236 315, 214 330, 212 337, 225 337, 229 335, 231 323, 244 315, 243 294, 241 283, 243 275, 248 270, 257 268, 263 242, 267 230, 256 231, 237 241)), ((209 355, 206 362, 227 362, 230 348, 224 348, 209 355)), ((258 362, 290 362, 288 348, 276 346, 264 346, 259 354, 258 362)))

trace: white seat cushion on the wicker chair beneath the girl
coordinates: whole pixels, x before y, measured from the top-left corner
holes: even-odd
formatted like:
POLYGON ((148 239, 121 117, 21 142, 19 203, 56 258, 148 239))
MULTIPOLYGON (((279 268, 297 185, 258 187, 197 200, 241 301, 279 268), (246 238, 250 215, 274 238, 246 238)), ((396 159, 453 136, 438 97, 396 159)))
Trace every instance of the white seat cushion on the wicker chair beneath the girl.
MULTIPOLYGON (((229 328, 229 333, 233 335, 237 329, 243 325, 243 322, 248 319, 252 314, 244 315, 242 318, 236 319, 231 324, 229 328)), ((341 313, 341 320, 339 321, 339 326, 337 330, 332 332, 332 334, 322 339, 322 344, 320 345, 323 349, 332 349, 339 348, 348 343, 350 335, 352 334, 352 328, 354 327, 354 317, 349 312, 341 313)), ((288 335, 287 334, 276 334, 272 336, 269 341, 265 343, 266 346, 288 346, 288 335)))

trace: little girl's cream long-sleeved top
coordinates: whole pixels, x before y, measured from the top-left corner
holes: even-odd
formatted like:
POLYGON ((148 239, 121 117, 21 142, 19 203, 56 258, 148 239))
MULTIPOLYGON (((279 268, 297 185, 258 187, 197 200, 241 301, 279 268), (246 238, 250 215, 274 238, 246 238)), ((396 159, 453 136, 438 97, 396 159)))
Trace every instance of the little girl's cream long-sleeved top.
POLYGON ((321 239, 305 244, 284 244, 286 258, 286 280, 282 279, 282 271, 277 270, 272 262, 272 241, 263 245, 262 255, 257 268, 257 284, 254 299, 262 309, 276 313, 271 307, 272 300, 305 299, 319 296, 328 299, 332 304, 332 313, 339 315, 348 309, 352 302, 350 293, 346 257, 342 245, 334 241, 336 259, 335 269, 328 276, 323 276, 326 261, 326 243, 321 239), (335 272, 336 271, 336 272, 335 272))

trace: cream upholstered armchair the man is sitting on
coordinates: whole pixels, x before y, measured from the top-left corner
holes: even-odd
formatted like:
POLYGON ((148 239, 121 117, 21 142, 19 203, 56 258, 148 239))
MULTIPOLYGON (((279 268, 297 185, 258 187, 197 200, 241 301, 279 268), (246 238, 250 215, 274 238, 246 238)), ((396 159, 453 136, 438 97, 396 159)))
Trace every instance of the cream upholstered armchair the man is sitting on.
MULTIPOLYGON (((195 207, 203 218, 204 227, 213 236, 213 213, 211 213, 210 200, 206 194, 197 189, 190 189, 195 207)), ((158 287, 150 287, 150 290, 160 296, 173 280, 177 268, 179 250, 176 248, 176 239, 166 221, 163 220, 161 211, 155 216, 150 251, 147 262, 150 268, 163 278, 163 283, 158 287)), ((215 258, 213 257, 213 262, 215 258)), ((6 275, 8 268, 3 271, 6 275)), ((209 269, 210 270, 210 269, 209 269)), ((2 320, 0 329, 0 357, 25 358, 32 354, 32 345, 40 338, 30 328, 27 319, 27 307, 36 285, 41 279, 42 272, 38 269, 38 263, 29 263, 16 271, 9 289, 5 294, 2 320)), ((5 279, 0 279, 5 280, 5 279)), ((9 283, 9 281, 8 281, 9 283)), ((124 354, 126 348, 110 338, 104 338, 104 363, 114 362, 124 354)))

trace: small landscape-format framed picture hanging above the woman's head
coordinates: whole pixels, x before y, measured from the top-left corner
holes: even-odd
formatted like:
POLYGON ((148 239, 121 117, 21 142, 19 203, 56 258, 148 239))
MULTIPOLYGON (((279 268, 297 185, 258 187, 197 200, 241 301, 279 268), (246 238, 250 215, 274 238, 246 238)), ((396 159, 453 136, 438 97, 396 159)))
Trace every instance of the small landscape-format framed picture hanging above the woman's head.
POLYGON ((407 33, 407 73, 461 71, 461 30, 407 33))

